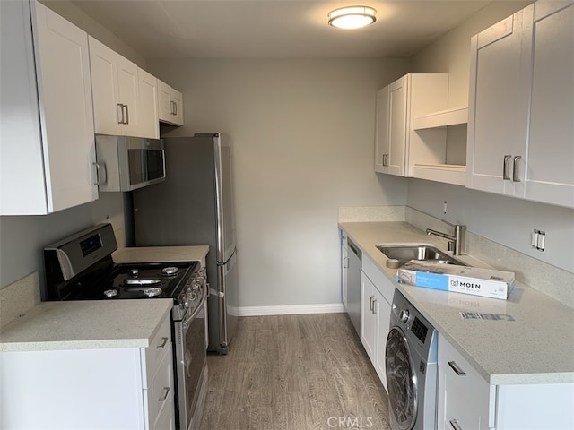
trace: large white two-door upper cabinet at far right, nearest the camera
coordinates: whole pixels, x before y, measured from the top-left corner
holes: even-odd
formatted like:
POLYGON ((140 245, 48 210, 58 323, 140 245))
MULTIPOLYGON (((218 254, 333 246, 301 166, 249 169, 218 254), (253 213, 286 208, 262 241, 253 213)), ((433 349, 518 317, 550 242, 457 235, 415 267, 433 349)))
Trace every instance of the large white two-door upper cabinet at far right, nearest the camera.
POLYGON ((574 4, 537 2, 474 36, 467 186, 574 207, 574 4))

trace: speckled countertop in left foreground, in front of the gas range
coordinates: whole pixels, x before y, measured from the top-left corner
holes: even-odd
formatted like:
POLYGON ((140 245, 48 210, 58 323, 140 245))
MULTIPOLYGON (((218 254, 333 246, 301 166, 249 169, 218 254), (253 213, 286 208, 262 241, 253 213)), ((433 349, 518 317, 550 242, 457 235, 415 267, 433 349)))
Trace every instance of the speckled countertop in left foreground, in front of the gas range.
POLYGON ((147 348, 173 300, 42 302, 0 331, 0 351, 147 348))

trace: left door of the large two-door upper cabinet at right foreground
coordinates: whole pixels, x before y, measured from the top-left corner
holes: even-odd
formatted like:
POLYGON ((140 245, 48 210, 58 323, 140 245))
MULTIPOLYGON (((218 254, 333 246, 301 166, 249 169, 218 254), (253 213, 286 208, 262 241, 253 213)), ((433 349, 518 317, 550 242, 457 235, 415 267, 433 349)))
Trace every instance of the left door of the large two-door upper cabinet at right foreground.
POLYGON ((524 172, 526 159, 530 49, 523 43, 529 21, 525 11, 471 40, 466 159, 469 188, 524 194, 519 175, 524 172))

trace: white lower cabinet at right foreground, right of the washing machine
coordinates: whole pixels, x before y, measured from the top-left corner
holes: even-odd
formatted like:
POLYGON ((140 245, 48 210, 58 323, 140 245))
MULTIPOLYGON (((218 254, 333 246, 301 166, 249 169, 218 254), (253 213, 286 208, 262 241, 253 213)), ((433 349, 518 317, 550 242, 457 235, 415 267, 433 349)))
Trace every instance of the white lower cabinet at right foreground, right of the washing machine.
POLYGON ((491 385, 439 334, 439 430, 571 430, 574 383, 491 385))

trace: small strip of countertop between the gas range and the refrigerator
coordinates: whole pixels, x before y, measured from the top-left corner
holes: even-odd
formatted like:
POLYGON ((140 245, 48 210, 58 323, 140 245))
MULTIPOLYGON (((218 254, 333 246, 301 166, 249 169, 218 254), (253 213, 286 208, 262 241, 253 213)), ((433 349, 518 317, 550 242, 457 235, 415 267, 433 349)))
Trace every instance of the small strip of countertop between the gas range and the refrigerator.
POLYGON ((137 246, 120 248, 114 262, 204 262, 209 246, 137 246))

